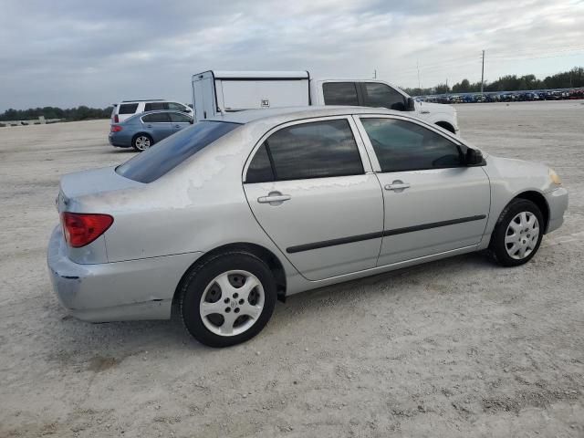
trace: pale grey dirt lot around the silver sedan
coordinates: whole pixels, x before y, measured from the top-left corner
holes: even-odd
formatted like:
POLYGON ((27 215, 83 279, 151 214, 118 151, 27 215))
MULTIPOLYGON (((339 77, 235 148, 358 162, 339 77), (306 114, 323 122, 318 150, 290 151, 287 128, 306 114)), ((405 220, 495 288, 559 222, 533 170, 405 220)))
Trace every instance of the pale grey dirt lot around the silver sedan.
POLYGON ((0 128, 0 436, 584 436, 584 104, 457 108, 464 138, 568 187, 536 258, 300 294, 221 350, 176 318, 92 325, 59 308, 58 179, 133 152, 110 147, 108 120, 0 128))

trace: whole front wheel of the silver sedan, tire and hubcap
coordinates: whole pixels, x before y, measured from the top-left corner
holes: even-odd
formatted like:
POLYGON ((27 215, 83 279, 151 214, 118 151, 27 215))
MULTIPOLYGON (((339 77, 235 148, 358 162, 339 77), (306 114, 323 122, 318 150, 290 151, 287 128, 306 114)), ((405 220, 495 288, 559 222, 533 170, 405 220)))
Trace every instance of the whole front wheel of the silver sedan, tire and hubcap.
POLYGON ((502 266, 519 266, 536 255, 544 234, 544 220, 535 203, 515 199, 499 216, 490 249, 502 266))

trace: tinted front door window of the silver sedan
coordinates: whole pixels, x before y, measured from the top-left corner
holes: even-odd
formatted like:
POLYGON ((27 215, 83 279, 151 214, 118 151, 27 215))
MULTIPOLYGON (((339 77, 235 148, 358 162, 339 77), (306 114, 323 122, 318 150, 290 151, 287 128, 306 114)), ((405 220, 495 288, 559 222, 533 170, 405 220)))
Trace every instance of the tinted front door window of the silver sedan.
POLYGON ((419 171, 464 165, 456 144, 405 120, 362 118, 381 172, 419 171))

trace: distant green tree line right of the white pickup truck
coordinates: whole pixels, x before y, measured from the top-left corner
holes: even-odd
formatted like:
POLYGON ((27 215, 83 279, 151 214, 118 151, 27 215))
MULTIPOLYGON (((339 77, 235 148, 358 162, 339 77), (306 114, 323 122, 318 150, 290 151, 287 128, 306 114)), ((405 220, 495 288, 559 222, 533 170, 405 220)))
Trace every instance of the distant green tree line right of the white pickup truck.
MULTIPOLYGON (((584 87, 584 68, 575 67, 569 71, 557 73, 547 78, 538 79, 536 75, 506 75, 493 82, 485 82, 484 91, 519 91, 528 89, 577 89, 584 87)), ((481 91, 480 82, 463 79, 450 88, 447 84, 438 84, 431 89, 405 89, 412 96, 445 93, 476 93, 481 91)))

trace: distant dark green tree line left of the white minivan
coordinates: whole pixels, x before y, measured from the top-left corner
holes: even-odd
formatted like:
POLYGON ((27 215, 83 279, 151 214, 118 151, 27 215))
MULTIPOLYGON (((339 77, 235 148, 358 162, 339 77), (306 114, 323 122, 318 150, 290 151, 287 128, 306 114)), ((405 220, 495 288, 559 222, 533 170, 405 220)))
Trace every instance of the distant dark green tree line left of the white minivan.
POLYGON ((92 119, 109 119, 113 107, 104 109, 89 108, 81 105, 77 108, 61 109, 57 107, 29 108, 28 110, 5 110, 0 114, 0 121, 14 120, 33 120, 43 116, 45 119, 64 119, 64 120, 92 120, 92 119))

